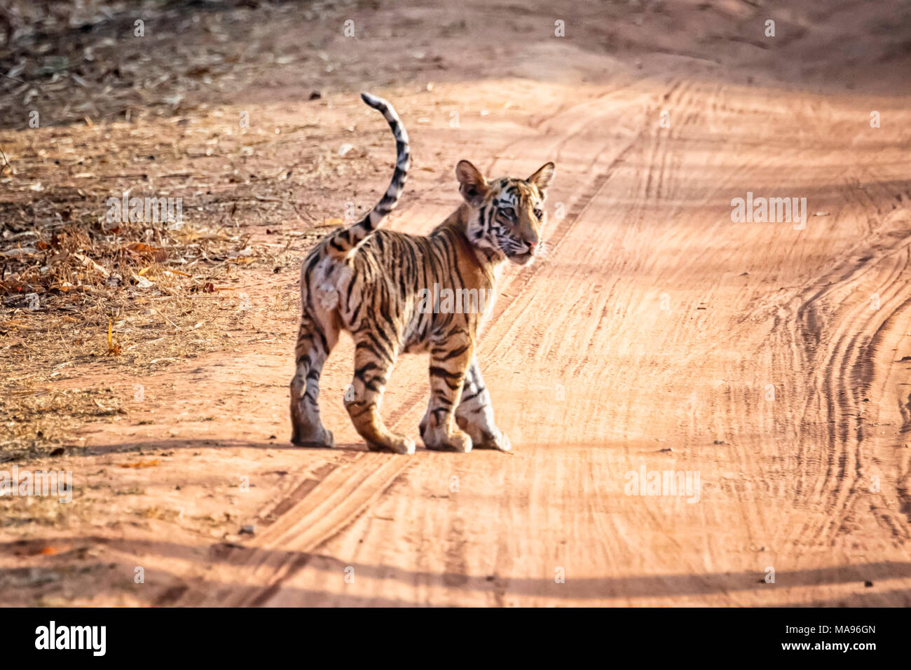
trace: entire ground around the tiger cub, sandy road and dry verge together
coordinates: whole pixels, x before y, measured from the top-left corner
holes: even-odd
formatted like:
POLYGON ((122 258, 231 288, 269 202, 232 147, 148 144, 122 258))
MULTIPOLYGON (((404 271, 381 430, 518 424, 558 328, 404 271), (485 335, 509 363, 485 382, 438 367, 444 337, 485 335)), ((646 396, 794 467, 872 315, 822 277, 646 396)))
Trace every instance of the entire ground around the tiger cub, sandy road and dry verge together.
POLYGON ((911 604, 911 7, 791 5, 10 5, 0 460, 74 490, 0 498, 3 603, 911 604), (347 341, 339 448, 288 446, 298 263, 392 169, 362 88, 413 141, 397 230, 456 160, 558 164, 482 344, 515 456, 366 453, 347 341))

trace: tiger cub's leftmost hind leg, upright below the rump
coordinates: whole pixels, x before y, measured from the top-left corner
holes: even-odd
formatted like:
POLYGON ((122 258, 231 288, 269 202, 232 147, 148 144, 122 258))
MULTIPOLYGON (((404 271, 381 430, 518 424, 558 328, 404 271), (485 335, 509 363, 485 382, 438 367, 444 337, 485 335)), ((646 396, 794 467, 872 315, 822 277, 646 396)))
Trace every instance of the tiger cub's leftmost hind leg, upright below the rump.
POLYGON ((291 380, 291 423, 293 444, 298 447, 332 447, 331 431, 320 419, 320 375, 322 366, 338 342, 339 329, 323 325, 304 314, 298 330, 294 361, 297 369, 291 380))

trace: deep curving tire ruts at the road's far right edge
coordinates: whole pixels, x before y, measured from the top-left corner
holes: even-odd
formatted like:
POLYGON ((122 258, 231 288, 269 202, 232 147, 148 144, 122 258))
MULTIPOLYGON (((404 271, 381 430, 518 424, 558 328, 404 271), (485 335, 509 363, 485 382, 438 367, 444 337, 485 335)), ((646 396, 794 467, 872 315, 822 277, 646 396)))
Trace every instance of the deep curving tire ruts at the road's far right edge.
MULTIPOLYGON (((817 414, 818 407, 824 408, 826 440, 824 477, 814 478, 814 489, 808 491, 803 477, 798 479, 796 494, 798 500, 804 495, 830 500, 831 518, 821 526, 804 524, 795 537, 832 541, 834 534, 843 531, 844 517, 858 501, 864 474, 870 471, 864 447, 873 427, 864 417, 865 403, 876 407, 889 402, 875 393, 879 370, 891 363, 883 342, 889 324, 895 327, 898 314, 906 311, 906 295, 911 292, 907 273, 911 235, 902 234, 888 246, 884 243, 889 237, 895 239, 896 232, 903 233, 880 232, 863 258, 855 255, 798 298, 793 322, 797 330, 790 336, 795 344, 807 345, 806 359, 798 368, 809 389, 804 412, 809 417, 817 414), (880 302, 876 309, 871 308, 872 294, 855 297, 863 285, 873 285, 871 281, 880 302)), ((806 462, 804 458, 801 465, 806 462)), ((891 522, 889 526, 897 528, 891 522)), ((908 537, 906 529, 902 535, 908 537)))

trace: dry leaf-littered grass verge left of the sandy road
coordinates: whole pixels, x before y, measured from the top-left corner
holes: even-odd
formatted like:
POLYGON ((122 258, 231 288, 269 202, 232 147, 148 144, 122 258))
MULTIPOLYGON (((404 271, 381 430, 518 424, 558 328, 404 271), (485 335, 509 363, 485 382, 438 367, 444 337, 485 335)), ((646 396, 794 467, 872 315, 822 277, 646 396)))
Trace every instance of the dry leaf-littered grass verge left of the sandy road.
MULTIPOLYGON (((142 39, 124 37, 139 3, 38 5, 10 5, 12 39, 0 35, 0 462, 77 448, 78 428, 128 411, 112 378, 255 333, 244 286, 296 267, 389 170, 375 119, 339 155, 365 114, 349 95, 304 90, 294 118, 225 104, 261 77, 340 81, 318 45, 273 32, 345 4, 263 3, 251 21, 245 2, 144 3, 142 39), (110 217, 124 194, 179 198, 182 220, 110 217)), ((260 300, 257 323, 294 307, 260 300)))

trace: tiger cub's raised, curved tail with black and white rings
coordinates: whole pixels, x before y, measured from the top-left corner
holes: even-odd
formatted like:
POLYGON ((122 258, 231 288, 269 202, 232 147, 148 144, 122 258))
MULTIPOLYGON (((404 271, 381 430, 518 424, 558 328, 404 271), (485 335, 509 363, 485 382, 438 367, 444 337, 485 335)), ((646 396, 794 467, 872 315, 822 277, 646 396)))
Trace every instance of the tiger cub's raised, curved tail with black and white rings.
POLYGON ((402 195, 404 181, 408 176, 408 166, 410 164, 410 149, 408 146, 408 133, 402 125, 402 119, 392 105, 383 98, 377 98, 369 93, 362 93, 361 98, 370 107, 383 113, 389 128, 393 130, 395 136, 395 171, 393 179, 389 182, 389 188, 386 189, 383 198, 376 203, 374 209, 370 211, 363 219, 348 228, 344 228, 333 233, 329 240, 330 254, 335 258, 344 258, 349 256, 358 244, 367 239, 372 232, 379 228, 390 211, 393 211, 402 195))

